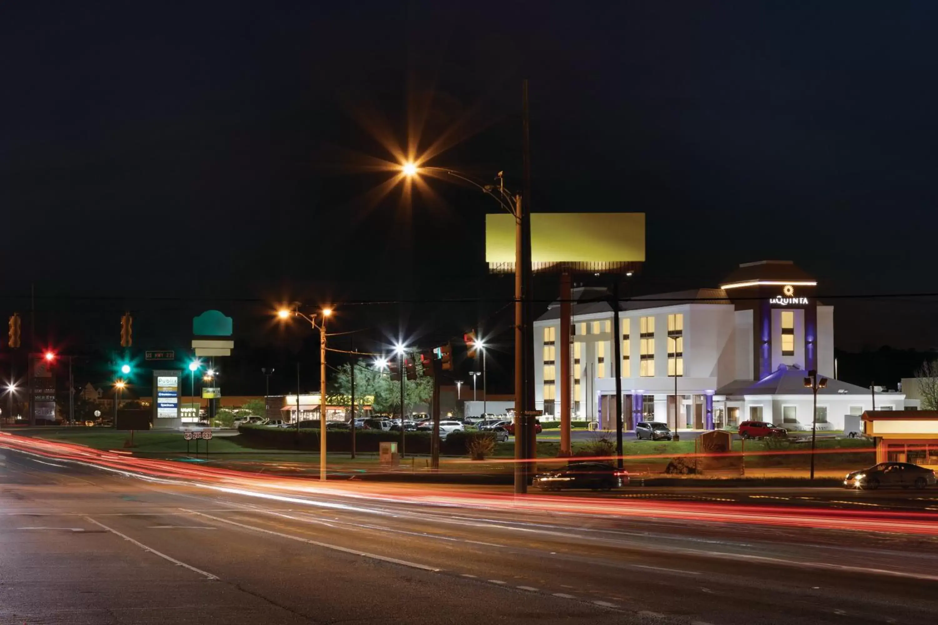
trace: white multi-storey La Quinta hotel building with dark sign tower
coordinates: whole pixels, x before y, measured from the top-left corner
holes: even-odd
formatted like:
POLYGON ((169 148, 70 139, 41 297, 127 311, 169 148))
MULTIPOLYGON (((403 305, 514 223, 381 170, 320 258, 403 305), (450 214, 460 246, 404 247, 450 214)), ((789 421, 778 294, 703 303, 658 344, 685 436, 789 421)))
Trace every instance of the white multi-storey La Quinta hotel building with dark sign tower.
MULTIPOLYGON (((906 408, 900 393, 870 394, 834 379, 834 307, 817 300, 817 280, 788 260, 740 265, 716 289, 685 290, 619 304, 622 406, 639 421, 680 428, 766 421, 790 429, 812 422, 807 370, 828 378, 818 392, 819 428, 844 415, 906 408), (675 393, 676 381, 676 393, 675 393), (675 399, 676 397, 676 399, 675 399)), ((573 419, 613 429, 613 308, 605 290, 574 289, 570 379, 562 379, 561 306, 535 322, 537 409, 559 415, 560 385, 572 387, 573 419)), ((917 402, 915 402, 917 403, 917 402)), ((911 408, 912 406, 910 406, 911 408)))

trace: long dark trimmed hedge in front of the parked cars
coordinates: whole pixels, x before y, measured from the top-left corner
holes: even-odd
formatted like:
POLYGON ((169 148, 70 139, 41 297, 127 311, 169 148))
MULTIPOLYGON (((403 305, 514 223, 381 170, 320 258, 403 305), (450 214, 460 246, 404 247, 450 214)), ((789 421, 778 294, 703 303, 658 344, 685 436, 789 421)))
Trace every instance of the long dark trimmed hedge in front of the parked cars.
MULTIPOLYGON (((267 427, 265 425, 240 425, 237 430, 252 443, 265 447, 319 450, 318 428, 301 427, 299 434, 291 427, 267 427)), ((407 454, 430 454, 430 437, 430 432, 407 432, 404 442, 405 452, 407 454)), ((493 437, 491 432, 453 432, 440 441, 440 454, 467 455, 468 444, 472 439, 493 437)), ((326 430, 325 438, 325 445, 329 452, 348 452, 352 449, 351 430, 326 430)), ((401 433, 356 429, 355 438, 356 452, 376 454, 380 450, 380 443, 398 442, 401 440, 401 433)))

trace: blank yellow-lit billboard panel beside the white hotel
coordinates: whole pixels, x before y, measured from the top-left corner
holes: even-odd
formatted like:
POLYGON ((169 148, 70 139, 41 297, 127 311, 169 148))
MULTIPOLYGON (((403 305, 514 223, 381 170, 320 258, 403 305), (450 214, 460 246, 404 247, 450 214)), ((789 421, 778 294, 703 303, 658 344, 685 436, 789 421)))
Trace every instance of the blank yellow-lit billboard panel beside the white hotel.
MULTIPOLYGON (((531 262, 618 265, 643 262, 644 213, 534 213, 531 216, 531 262)), ((485 260, 490 267, 514 265, 515 218, 485 219, 485 260)))

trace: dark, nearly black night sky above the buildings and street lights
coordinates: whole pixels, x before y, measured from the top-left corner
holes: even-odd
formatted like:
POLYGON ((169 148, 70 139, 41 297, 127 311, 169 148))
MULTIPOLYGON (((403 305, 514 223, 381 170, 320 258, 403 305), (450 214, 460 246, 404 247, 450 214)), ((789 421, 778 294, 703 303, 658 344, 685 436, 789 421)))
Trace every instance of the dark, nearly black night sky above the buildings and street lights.
MULTIPOLYGON (((365 342, 399 325, 424 340, 502 327, 497 303, 431 301, 510 297, 482 263, 493 204, 436 182, 409 208, 397 190, 371 201, 390 174, 363 168, 411 126, 421 148, 447 138, 431 164, 520 186, 525 77, 534 210, 646 213, 636 290, 715 286, 739 262, 780 258, 822 293, 938 291, 936 13, 8 3, 2 312, 22 312, 35 282, 43 340, 116 343, 129 308, 138 342, 162 347, 220 307, 265 359, 298 337, 265 326, 268 301, 418 300, 344 308, 337 323, 371 329, 365 342)), ((938 345, 933 300, 834 304, 840 348, 938 345)))

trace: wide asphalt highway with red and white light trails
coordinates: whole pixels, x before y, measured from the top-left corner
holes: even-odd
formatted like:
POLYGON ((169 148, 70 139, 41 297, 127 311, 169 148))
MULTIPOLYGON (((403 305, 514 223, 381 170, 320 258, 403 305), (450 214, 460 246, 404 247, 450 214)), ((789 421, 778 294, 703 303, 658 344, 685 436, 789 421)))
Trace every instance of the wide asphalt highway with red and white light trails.
POLYGON ((803 489, 773 491, 793 498, 778 499, 787 507, 739 489, 515 498, 324 485, 10 436, 0 454, 0 623, 931 624, 938 614, 938 502, 925 505, 938 491, 829 493, 919 498, 883 509, 793 503, 803 489))

